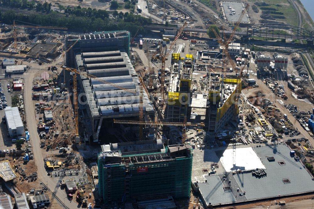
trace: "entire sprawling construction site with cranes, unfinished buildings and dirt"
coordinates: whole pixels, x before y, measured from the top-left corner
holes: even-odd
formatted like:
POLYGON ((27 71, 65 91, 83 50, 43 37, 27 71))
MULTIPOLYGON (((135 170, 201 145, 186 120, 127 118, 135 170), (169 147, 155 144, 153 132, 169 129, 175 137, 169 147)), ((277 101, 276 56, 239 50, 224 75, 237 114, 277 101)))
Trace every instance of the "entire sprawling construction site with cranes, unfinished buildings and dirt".
POLYGON ((1 206, 245 208, 314 193, 302 56, 243 43, 245 3, 217 2, 232 30, 208 38, 192 29, 218 17, 162 2, 147 4, 154 21, 181 26, 2 26, 1 206))

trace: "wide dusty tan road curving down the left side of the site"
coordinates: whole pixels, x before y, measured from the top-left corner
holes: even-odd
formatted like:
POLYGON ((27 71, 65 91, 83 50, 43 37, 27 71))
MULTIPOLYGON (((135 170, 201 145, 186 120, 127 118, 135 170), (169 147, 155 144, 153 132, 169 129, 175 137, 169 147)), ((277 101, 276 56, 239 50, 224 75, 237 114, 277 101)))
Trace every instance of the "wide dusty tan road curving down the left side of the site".
POLYGON ((33 145, 33 153, 34 153, 34 160, 37 166, 37 175, 38 179, 47 184, 48 188, 61 200, 65 203, 70 209, 77 209, 78 203, 76 201, 68 201, 64 199, 67 197, 64 190, 60 190, 58 179, 57 178, 50 178, 47 176, 46 169, 44 167, 43 156, 41 154, 40 148, 40 138, 37 134, 37 122, 35 119, 35 107, 32 100, 32 85, 33 79, 35 74, 38 70, 32 69, 28 73, 24 74, 25 84, 24 84, 24 101, 25 101, 25 113, 26 113, 26 120, 27 120, 27 127, 30 131, 30 139, 33 145))

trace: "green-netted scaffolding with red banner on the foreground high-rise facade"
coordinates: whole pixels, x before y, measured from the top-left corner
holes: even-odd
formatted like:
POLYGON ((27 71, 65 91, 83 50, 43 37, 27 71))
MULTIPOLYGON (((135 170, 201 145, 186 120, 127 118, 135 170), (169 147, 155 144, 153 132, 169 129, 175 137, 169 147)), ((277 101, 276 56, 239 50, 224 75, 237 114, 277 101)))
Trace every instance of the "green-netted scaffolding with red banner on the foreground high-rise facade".
POLYGON ((187 157, 166 152, 123 156, 123 163, 98 160, 99 193, 105 203, 145 198, 190 197, 192 149, 187 157))

